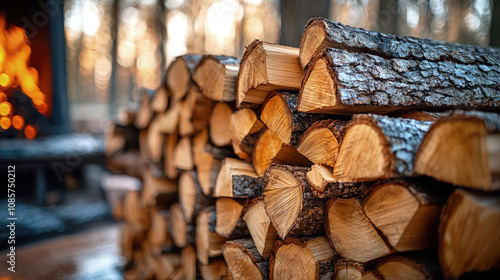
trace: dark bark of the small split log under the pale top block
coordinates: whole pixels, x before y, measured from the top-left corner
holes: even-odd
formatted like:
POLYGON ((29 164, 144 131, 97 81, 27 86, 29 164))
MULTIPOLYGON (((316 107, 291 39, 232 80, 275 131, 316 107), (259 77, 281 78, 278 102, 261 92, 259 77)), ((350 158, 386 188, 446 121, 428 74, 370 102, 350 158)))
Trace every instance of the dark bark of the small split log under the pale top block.
MULTIPOLYGON (((296 145, 302 134, 315 122, 319 120, 324 120, 330 118, 328 115, 324 114, 307 114, 304 112, 297 111, 297 102, 299 99, 298 92, 284 92, 284 91, 274 91, 268 95, 267 101, 269 101, 274 96, 280 96, 280 98, 286 102, 288 109, 290 110, 292 118, 292 134, 290 137, 290 145, 296 145)), ((262 108, 266 106, 267 101, 263 104, 262 108)), ((261 114, 262 118, 262 114, 261 114)))

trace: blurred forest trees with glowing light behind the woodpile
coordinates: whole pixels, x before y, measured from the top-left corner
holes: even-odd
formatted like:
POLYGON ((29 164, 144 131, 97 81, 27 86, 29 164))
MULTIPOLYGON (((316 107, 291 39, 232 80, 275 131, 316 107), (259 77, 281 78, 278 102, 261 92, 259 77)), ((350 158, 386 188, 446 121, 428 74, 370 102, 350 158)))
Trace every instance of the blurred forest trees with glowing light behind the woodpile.
MULTIPOLYGON (((496 16, 495 16, 496 15, 496 16)), ((75 128, 133 106, 174 57, 241 56, 253 39, 298 47, 307 20, 387 33, 500 45, 492 0, 66 0, 68 95, 75 128), (91 113, 90 113, 91 112, 91 113)))

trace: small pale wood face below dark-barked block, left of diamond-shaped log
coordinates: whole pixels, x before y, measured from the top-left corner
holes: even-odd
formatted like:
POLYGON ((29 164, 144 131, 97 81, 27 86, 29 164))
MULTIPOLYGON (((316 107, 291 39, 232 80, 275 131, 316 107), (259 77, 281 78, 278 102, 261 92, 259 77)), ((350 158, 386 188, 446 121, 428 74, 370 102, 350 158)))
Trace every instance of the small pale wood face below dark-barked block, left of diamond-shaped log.
MULTIPOLYGON (((244 202, 240 203, 228 197, 217 199, 215 201, 215 211, 217 212, 215 232, 221 236, 231 236, 235 228, 241 224, 244 208, 244 202)), ((244 222, 242 224, 246 228, 244 222)))

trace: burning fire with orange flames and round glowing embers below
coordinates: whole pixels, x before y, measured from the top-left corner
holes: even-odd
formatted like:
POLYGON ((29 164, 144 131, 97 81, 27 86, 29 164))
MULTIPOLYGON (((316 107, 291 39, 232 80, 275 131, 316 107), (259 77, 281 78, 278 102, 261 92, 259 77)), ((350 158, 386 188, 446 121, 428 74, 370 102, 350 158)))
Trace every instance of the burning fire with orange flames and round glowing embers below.
POLYGON ((36 129, 25 126, 25 120, 14 114, 13 105, 8 101, 15 90, 21 89, 41 114, 48 116, 49 106, 45 95, 38 87, 38 72, 29 66, 31 48, 24 29, 17 26, 6 27, 5 15, 0 15, 0 127, 24 130, 27 138, 34 138, 36 129))

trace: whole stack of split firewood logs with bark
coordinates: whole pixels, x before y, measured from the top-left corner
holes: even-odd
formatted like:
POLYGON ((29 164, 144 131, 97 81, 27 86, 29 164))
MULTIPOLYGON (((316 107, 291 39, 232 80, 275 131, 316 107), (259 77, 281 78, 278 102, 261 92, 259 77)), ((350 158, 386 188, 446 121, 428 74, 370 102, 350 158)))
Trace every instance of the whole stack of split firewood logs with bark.
POLYGON ((499 49, 326 19, 180 56, 134 120, 126 276, 498 277, 498 108, 499 49))

